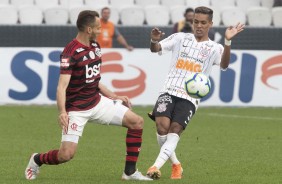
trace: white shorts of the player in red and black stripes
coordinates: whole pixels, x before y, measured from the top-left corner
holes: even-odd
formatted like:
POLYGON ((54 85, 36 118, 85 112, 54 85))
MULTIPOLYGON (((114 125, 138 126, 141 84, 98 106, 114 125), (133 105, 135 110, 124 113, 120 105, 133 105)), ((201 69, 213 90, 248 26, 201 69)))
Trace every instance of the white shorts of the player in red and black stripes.
POLYGON ((122 119, 128 108, 119 102, 101 96, 100 102, 86 111, 70 111, 68 129, 62 132, 62 142, 78 142, 87 122, 105 125, 122 125, 122 119))

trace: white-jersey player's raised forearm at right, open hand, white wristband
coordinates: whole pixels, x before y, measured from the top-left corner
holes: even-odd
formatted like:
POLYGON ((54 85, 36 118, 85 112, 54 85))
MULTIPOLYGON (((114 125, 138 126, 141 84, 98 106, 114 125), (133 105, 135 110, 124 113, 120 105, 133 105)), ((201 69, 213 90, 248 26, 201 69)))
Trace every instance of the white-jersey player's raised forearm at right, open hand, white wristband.
POLYGON ((238 23, 236 26, 230 26, 225 31, 225 40, 224 40, 224 51, 222 54, 220 67, 225 69, 229 65, 230 61, 230 50, 231 50, 231 40, 238 33, 244 30, 245 25, 238 23))

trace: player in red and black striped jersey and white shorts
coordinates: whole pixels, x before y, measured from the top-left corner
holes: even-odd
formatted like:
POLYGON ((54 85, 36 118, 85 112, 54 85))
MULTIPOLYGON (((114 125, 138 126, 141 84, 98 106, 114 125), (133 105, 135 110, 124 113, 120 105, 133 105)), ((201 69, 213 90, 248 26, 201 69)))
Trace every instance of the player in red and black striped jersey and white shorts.
POLYGON ((130 110, 126 96, 117 96, 100 83, 101 50, 95 41, 101 32, 99 14, 82 11, 77 19, 78 34, 61 54, 60 77, 57 87, 59 124, 62 141, 59 149, 33 153, 25 177, 35 179, 43 164, 58 165, 71 160, 79 137, 87 122, 119 125, 128 128, 124 180, 151 180, 136 169, 142 143, 144 120, 130 110), (123 103, 115 103, 121 100, 123 103))

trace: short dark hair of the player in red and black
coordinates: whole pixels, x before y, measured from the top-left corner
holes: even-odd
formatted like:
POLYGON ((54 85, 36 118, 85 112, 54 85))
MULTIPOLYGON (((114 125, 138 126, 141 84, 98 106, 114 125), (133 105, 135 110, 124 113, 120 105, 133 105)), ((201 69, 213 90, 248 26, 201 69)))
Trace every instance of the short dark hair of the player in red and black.
POLYGON ((81 11, 76 21, 76 27, 79 31, 84 31, 85 27, 93 25, 99 17, 99 13, 92 10, 81 11))

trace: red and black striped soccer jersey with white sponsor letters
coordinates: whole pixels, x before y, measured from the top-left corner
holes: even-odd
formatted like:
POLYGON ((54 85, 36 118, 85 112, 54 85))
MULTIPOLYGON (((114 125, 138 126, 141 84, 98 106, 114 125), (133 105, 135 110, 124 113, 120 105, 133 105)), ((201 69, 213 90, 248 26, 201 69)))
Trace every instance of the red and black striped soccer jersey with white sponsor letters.
POLYGON ((66 90, 66 110, 82 111, 94 107, 100 101, 99 81, 101 49, 98 43, 90 47, 72 40, 64 49, 60 59, 60 74, 71 75, 66 90))

